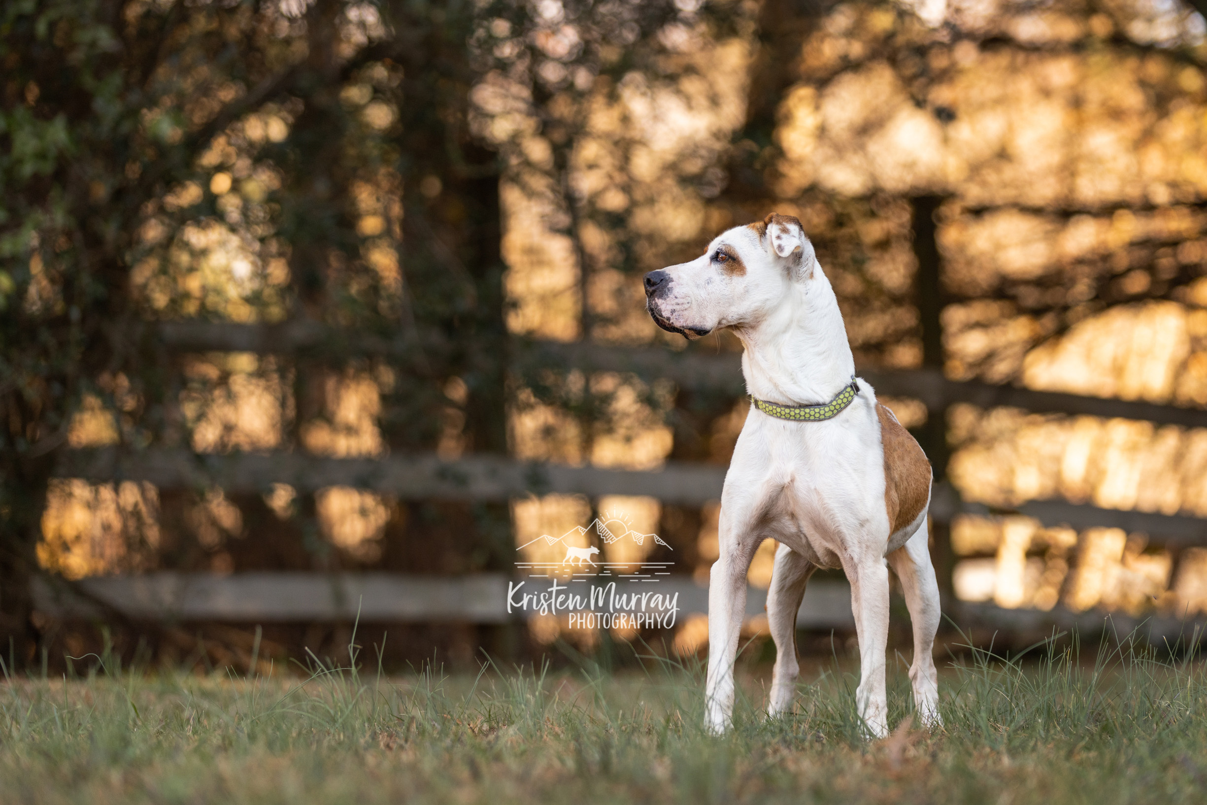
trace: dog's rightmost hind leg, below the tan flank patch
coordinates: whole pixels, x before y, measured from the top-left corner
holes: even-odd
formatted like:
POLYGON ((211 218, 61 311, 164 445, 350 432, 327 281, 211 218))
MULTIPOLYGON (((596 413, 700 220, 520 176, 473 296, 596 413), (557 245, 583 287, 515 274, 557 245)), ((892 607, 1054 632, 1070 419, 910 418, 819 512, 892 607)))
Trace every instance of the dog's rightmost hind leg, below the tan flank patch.
POLYGON ((909 541, 888 554, 888 564, 900 579, 905 606, 914 622, 914 663, 909 667, 914 706, 922 723, 938 727, 939 673, 934 667, 934 634, 939 630, 939 584, 927 548, 926 519, 909 541))

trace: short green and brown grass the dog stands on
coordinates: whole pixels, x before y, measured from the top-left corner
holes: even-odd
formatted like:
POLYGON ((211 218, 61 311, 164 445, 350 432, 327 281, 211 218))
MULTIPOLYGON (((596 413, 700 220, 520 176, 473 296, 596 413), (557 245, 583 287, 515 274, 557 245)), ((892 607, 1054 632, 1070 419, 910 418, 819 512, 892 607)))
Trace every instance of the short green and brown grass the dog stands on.
POLYGON ((935 733, 911 728, 892 667, 898 728, 871 742, 839 664, 804 675, 772 722, 769 673, 745 677, 715 739, 695 666, 244 679, 92 658, 84 678, 0 686, 0 803, 1202 801, 1203 666, 1081 654, 949 663, 935 733))

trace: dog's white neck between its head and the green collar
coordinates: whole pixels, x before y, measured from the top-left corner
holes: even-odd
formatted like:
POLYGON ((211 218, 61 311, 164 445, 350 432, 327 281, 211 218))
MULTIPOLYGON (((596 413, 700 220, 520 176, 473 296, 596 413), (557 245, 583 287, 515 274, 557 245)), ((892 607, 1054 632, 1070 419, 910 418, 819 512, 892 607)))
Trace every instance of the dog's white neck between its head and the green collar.
POLYGON ((785 406, 826 403, 855 374, 842 311, 816 266, 788 286, 785 299, 758 322, 734 327, 746 346, 742 374, 758 399, 785 406))

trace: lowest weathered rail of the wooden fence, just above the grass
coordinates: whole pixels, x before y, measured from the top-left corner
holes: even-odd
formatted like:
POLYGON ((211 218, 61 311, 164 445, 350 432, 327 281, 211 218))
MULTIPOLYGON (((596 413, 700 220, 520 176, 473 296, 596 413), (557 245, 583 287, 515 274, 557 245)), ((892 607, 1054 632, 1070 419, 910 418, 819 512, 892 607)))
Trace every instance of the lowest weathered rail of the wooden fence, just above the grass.
MULTIPOLYGON (((273 623, 474 623, 503 624, 523 613, 507 612, 509 577, 404 576, 396 573, 146 573, 87 578, 72 584, 40 577, 34 581, 37 608, 57 618, 105 618, 116 609, 133 620, 164 624, 223 622, 273 623)), ((678 595, 678 623, 707 614, 709 589, 689 577, 672 576, 658 591, 678 595)), ((746 617, 763 614, 766 590, 750 587, 746 617)), ((1077 629, 1083 636, 1102 630, 1135 634, 1158 646, 1183 646, 1203 638, 1203 622, 1170 614, 1136 618, 1056 607, 1003 609, 992 603, 951 602, 945 614, 960 626, 979 624, 1010 632, 1048 636, 1077 629)), ((797 614, 800 629, 853 630, 851 588, 841 579, 815 579, 805 589, 797 614)))

